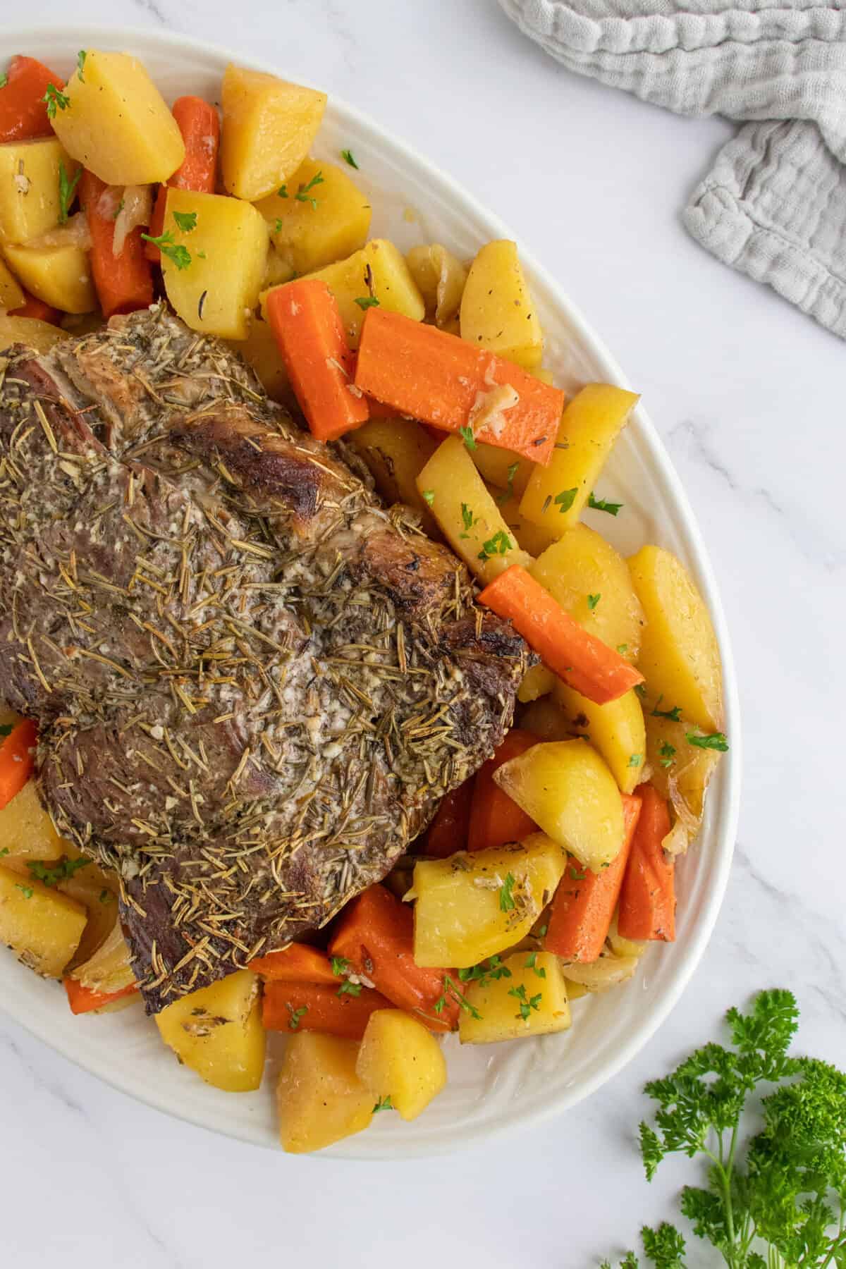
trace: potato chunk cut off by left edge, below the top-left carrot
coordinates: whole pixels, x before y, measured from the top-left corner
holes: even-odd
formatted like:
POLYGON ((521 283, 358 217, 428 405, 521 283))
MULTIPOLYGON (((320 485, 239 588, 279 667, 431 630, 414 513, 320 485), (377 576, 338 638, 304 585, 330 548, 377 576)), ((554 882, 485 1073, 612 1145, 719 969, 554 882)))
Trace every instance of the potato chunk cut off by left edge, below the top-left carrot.
POLYGON ((56 228, 60 162, 70 178, 76 164, 56 137, 0 145, 0 240, 28 242, 56 228))

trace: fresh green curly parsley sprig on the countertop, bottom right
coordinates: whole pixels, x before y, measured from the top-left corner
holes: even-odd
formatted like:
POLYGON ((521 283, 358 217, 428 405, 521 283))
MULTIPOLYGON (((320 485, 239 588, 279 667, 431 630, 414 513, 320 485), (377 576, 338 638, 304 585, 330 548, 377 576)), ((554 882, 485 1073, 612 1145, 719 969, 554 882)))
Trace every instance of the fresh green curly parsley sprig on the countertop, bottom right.
MULTIPOLYGON (((791 992, 762 991, 748 1014, 729 1009, 732 1047, 705 1044, 646 1086, 658 1103, 654 1127, 641 1124, 647 1178, 667 1155, 704 1155, 705 1185, 682 1189, 681 1212, 729 1269, 846 1265, 846 1074, 789 1056, 798 1020, 791 992), (764 1128, 743 1156, 743 1113, 762 1085, 774 1086, 764 1128)), ((685 1269, 675 1226, 641 1237, 656 1269, 685 1269)), ((639 1269, 634 1253, 621 1269, 639 1269)))

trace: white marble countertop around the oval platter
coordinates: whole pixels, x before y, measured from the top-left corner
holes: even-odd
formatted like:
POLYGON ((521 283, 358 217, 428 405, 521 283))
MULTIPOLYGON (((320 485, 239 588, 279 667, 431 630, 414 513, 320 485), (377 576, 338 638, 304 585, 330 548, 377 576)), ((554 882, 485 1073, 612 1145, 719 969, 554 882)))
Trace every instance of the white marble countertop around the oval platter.
MULTIPOLYGON (((846 348, 701 251, 679 212, 722 121, 567 75, 495 0, 28 0, 5 25, 161 25, 273 60, 383 119, 557 274, 643 392, 694 504, 733 634, 746 770, 729 893, 671 1019, 564 1118, 400 1166, 274 1156, 148 1110, 0 1015, 0 1255, 15 1269, 581 1269, 671 1217, 639 1089, 764 986, 843 1062, 846 348)), ((0 58, 15 52, 0 33, 0 58)), ((703 1264, 709 1261, 701 1261, 703 1264)), ((713 1263, 713 1261, 710 1261, 713 1263)))

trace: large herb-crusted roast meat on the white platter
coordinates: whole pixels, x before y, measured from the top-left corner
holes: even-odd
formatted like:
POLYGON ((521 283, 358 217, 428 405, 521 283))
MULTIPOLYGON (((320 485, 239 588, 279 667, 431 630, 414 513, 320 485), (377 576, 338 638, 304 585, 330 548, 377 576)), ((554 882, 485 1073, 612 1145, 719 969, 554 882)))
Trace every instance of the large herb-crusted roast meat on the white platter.
POLYGON ((157 1011, 383 877, 530 655, 164 306, 13 350, 0 456, 0 689, 58 831, 119 873, 157 1011))

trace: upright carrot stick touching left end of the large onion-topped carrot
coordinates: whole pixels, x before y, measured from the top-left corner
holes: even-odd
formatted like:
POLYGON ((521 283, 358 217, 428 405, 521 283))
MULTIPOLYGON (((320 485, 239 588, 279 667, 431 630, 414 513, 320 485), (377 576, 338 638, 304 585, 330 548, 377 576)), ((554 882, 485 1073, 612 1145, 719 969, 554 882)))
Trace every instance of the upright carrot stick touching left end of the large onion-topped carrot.
POLYGON ((353 358, 337 301, 325 282, 301 278, 268 296, 268 317, 299 407, 318 440, 336 440, 368 420, 353 383, 353 358))

